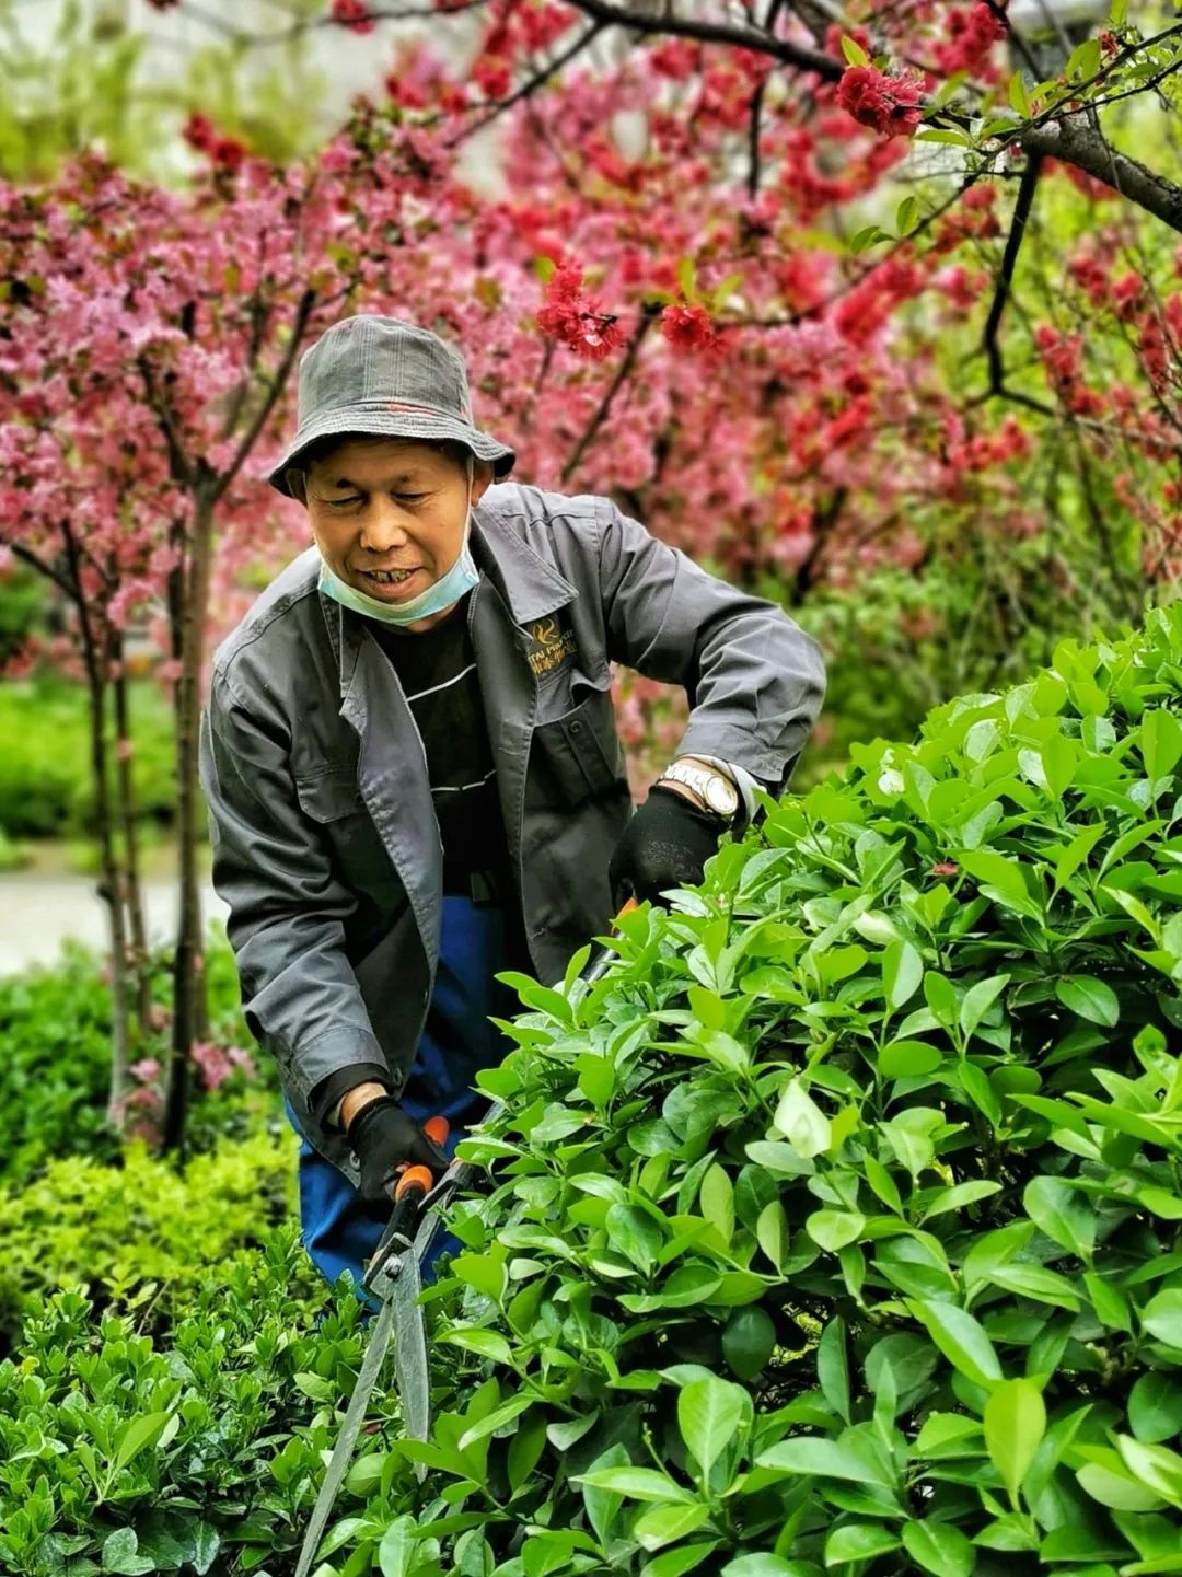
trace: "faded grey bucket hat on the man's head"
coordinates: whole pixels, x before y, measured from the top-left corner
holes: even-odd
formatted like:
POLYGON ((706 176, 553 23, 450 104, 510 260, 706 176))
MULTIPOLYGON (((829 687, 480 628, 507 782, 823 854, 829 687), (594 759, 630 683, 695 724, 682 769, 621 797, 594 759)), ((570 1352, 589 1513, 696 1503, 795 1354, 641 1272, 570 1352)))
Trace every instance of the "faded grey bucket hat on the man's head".
POLYGON ((284 473, 319 438, 453 438, 497 478, 516 454, 472 423, 467 369, 458 350, 426 328, 365 312, 344 317, 300 358, 294 442, 267 478, 292 497, 284 473))

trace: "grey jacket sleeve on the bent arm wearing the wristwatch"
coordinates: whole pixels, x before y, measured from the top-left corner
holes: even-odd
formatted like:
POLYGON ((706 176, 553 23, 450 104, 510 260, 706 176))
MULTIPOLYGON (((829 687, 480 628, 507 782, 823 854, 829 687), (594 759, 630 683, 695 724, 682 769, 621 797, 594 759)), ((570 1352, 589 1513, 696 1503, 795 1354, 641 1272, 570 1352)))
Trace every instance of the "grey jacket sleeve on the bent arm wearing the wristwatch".
POLYGON ((781 790, 825 692, 817 643, 775 602, 699 569, 608 500, 600 520, 608 656, 685 688, 680 755, 732 762, 781 790))

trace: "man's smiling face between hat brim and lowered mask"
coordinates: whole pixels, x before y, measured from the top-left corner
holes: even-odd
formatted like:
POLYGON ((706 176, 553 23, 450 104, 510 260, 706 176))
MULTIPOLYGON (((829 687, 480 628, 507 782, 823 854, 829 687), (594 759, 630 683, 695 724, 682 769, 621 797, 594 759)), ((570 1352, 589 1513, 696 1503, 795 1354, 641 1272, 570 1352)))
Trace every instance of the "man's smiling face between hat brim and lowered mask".
MULTIPOLYGON (((491 479, 491 467, 478 464, 473 503, 491 479)), ((346 438, 312 465, 305 501, 316 546, 333 574, 396 607, 426 591, 459 558, 467 468, 426 443, 346 438)))

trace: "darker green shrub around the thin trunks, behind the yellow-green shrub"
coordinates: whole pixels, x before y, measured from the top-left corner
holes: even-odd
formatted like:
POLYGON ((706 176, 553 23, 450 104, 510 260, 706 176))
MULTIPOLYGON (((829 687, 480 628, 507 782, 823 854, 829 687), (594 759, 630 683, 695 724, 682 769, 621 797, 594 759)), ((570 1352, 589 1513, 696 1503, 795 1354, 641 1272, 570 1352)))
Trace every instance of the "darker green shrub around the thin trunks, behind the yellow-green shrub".
MULTIPOLYGON (((210 1033, 218 1044, 246 1046, 234 956, 211 935, 205 954, 210 1033)), ((153 992, 161 1011, 169 997, 167 959, 155 962, 153 992)), ((166 1020, 161 1019, 166 1027, 166 1020)), ((164 1028, 140 1046, 140 1058, 164 1063, 164 1028)), ((0 1186, 32 1176, 49 1158, 114 1161, 118 1142, 107 1126, 110 1082, 110 986, 98 959, 68 946, 55 968, 0 979, 0 1186)), ((197 1080, 199 1083, 199 1080, 197 1080)), ((188 1140, 208 1148, 221 1134, 243 1137, 278 1110, 278 1079, 268 1058, 256 1058, 251 1080, 235 1074, 219 1090, 194 1094, 188 1140)))

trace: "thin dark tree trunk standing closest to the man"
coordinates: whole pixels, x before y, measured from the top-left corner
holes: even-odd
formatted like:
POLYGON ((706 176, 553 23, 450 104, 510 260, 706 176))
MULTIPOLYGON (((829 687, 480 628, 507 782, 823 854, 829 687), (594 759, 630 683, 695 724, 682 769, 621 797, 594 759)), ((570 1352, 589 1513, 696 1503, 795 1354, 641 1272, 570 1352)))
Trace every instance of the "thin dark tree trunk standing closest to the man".
POLYGON ((177 681, 177 836, 180 915, 172 962, 172 1057, 164 1102, 164 1150, 183 1153, 191 1077, 191 1049, 205 1020, 205 957, 197 877, 200 790, 197 785, 197 724, 205 658, 205 615, 213 555, 213 498, 197 487, 191 527, 188 574, 180 599, 180 678, 177 681))

